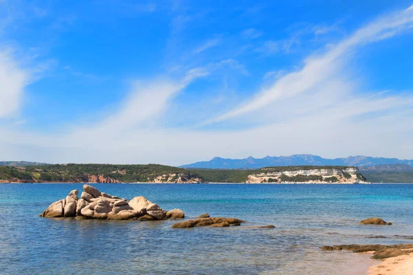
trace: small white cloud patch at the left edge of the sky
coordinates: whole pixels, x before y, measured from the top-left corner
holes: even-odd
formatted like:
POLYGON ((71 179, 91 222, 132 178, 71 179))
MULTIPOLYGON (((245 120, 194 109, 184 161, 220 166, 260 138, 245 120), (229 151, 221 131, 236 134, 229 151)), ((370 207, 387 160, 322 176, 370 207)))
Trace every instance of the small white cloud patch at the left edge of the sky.
POLYGON ((19 67, 10 52, 0 52, 0 119, 19 111, 28 73, 19 67))

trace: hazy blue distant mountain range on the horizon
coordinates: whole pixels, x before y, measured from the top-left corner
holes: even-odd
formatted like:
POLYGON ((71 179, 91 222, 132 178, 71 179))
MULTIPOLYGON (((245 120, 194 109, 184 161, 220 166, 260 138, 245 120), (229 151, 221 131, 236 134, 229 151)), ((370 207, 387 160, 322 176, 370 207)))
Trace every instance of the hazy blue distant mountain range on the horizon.
POLYGON ((257 169, 266 166, 375 166, 379 164, 406 164, 413 166, 413 159, 396 159, 385 157, 365 157, 357 155, 354 157, 341 157, 337 159, 325 159, 318 155, 290 155, 281 157, 266 156, 262 159, 247 157, 246 159, 223 159, 214 157, 209 162, 195 162, 180 166, 181 168, 215 168, 215 169, 257 169))

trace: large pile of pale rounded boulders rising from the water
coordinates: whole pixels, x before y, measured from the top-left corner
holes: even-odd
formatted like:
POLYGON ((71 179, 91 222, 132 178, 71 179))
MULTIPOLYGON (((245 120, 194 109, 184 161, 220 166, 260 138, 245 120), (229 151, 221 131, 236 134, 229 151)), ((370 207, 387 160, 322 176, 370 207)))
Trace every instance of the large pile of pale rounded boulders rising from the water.
POLYGON ((130 201, 100 192, 97 188, 85 184, 81 199, 78 190, 72 190, 65 199, 52 203, 40 217, 76 217, 85 219, 156 221, 180 219, 184 212, 180 209, 162 210, 158 204, 145 197, 134 197, 130 201))

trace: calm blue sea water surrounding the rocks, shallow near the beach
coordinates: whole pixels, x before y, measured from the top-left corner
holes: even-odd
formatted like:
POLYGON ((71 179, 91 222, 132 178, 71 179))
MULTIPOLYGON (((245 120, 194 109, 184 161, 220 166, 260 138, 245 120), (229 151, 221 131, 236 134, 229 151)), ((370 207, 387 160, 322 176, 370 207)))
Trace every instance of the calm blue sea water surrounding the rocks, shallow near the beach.
POLYGON ((319 246, 413 242, 394 236, 413 236, 413 185, 94 186, 187 217, 209 212, 248 224, 176 230, 173 221, 45 219, 50 203, 82 184, 0 184, 0 274, 364 274, 367 255, 319 246), (357 224, 368 217, 394 225, 357 224), (268 224, 276 228, 245 228, 268 224), (377 235, 389 238, 369 238, 377 235))

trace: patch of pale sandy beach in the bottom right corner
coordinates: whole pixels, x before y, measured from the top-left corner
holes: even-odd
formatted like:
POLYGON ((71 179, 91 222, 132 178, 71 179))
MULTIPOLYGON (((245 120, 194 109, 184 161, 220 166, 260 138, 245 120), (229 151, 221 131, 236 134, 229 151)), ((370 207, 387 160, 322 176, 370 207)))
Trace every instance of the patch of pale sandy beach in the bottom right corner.
POLYGON ((376 260, 377 265, 368 269, 369 275, 412 275, 413 253, 384 260, 376 260))

